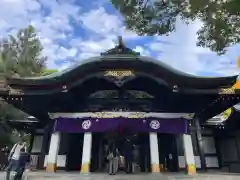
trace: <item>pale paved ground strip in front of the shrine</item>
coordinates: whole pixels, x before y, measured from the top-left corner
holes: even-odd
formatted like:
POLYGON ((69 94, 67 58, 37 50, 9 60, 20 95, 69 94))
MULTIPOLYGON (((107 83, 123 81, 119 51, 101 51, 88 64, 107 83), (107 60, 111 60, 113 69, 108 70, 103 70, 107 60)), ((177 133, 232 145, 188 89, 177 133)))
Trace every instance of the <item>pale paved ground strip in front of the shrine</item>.
MULTIPOLYGON (((239 180, 240 174, 228 173, 201 173, 196 176, 187 176, 180 173, 169 174, 78 174, 59 172, 56 174, 46 172, 28 172, 25 180, 239 180)), ((4 180, 4 173, 0 172, 0 180, 4 180)))

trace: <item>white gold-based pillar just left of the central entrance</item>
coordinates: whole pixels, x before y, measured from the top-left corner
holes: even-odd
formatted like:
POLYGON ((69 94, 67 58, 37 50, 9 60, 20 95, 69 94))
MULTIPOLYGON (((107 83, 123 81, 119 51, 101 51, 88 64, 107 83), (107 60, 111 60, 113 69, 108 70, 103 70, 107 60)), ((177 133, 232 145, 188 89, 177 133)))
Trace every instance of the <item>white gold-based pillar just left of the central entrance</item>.
POLYGON ((91 151, 92 151, 92 133, 86 132, 84 133, 83 138, 81 173, 90 172, 91 151))

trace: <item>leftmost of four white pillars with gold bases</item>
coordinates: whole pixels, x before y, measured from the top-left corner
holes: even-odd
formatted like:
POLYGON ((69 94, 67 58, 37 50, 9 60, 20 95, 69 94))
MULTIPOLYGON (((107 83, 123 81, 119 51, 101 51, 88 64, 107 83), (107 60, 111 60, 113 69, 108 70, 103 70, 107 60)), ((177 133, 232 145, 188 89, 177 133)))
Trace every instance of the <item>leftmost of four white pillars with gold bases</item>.
POLYGON ((51 136, 48 158, 47 158, 47 172, 56 172, 57 169, 57 157, 60 146, 60 132, 53 132, 51 136))

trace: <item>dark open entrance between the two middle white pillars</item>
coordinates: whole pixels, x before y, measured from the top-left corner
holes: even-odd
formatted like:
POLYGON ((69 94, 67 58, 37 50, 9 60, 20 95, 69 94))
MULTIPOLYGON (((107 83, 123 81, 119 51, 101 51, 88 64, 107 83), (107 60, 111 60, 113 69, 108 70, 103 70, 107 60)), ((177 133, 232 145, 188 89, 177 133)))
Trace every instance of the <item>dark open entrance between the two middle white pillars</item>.
POLYGON ((93 134, 91 172, 107 172, 110 143, 119 151, 119 172, 126 171, 126 154, 132 157, 133 173, 151 172, 149 133, 134 133, 126 128, 93 134))

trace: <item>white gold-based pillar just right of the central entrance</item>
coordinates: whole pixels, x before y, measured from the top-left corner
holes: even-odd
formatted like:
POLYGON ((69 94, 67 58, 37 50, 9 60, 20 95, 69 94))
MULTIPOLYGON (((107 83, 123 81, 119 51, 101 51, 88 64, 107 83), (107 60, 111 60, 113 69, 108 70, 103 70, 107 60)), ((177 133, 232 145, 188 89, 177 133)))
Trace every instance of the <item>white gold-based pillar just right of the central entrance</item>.
POLYGON ((149 142, 150 142, 150 158, 151 158, 151 167, 152 173, 159 173, 159 151, 158 151, 158 137, 157 133, 149 133, 149 142))

